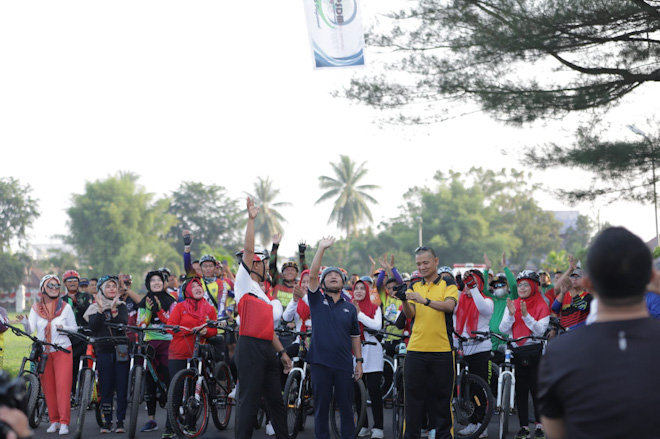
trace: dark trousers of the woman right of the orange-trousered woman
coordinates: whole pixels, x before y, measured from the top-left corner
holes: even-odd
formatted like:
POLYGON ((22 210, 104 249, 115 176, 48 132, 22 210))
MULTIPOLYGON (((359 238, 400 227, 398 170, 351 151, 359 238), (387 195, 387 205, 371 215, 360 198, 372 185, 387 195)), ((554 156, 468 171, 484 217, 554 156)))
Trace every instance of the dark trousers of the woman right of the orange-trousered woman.
POLYGON ((116 355, 96 354, 96 370, 99 373, 101 411, 106 422, 112 422, 112 400, 117 392, 117 420, 126 418, 128 403, 128 366, 130 362, 116 361, 116 355))

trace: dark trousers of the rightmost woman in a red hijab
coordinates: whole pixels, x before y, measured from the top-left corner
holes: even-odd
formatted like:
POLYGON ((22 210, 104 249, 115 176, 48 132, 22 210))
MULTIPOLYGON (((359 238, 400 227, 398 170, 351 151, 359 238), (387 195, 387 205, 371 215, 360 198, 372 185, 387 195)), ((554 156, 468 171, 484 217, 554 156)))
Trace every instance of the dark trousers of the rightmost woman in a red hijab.
POLYGON ((516 406, 518 407, 518 420, 520 427, 529 424, 529 394, 532 394, 532 405, 534 407, 534 421, 539 423, 536 396, 538 392, 539 363, 541 362, 541 351, 533 354, 516 356, 514 350, 514 363, 516 365, 516 406))

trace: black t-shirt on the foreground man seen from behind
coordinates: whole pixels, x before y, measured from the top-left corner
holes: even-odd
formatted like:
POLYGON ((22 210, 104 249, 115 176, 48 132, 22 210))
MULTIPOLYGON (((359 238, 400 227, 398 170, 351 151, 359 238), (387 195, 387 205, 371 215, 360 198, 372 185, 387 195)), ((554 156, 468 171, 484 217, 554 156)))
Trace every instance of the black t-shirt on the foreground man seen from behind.
POLYGON ((541 412, 569 438, 660 437, 660 322, 595 322, 550 342, 539 373, 541 412))

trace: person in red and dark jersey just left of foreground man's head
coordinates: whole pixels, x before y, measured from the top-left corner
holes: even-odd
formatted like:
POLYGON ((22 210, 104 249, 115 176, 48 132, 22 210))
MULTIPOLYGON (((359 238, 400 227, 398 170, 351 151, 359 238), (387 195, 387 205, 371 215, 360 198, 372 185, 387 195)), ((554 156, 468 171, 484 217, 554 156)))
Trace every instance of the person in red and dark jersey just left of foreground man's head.
POLYGON ((559 324, 567 331, 584 325, 589 316, 589 305, 593 296, 580 287, 584 274, 581 268, 575 268, 570 274, 571 288, 557 294, 552 303, 552 312, 559 316, 559 324))

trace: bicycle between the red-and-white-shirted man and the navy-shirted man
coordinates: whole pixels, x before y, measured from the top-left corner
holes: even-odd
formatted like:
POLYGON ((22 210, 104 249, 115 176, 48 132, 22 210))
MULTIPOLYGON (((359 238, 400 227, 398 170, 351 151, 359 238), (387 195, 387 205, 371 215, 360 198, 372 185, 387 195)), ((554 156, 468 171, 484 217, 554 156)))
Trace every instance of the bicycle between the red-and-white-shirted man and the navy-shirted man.
POLYGON ((313 408, 312 378, 305 361, 307 357, 307 338, 311 331, 300 332, 288 328, 278 328, 278 333, 289 333, 300 337, 298 356, 292 358, 294 367, 289 372, 284 385, 284 408, 286 409, 286 424, 291 439, 305 426, 309 409, 313 408))

